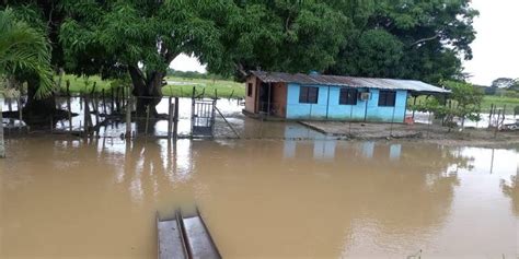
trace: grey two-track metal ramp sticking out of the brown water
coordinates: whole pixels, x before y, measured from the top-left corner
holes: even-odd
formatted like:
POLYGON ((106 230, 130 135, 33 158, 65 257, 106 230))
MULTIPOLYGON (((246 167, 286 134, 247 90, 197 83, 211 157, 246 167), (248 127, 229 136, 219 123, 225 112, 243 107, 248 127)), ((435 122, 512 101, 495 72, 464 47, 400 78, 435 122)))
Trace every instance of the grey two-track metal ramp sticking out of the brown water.
POLYGON ((184 216, 177 210, 170 219, 157 216, 159 259, 220 259, 198 209, 195 215, 184 216))

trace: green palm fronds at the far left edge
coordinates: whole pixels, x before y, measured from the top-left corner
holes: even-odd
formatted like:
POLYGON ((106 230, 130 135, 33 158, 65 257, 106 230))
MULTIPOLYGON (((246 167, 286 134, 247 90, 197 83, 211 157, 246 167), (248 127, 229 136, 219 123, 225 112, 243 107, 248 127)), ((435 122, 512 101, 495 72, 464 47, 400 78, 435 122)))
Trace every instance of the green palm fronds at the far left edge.
POLYGON ((16 19, 12 9, 0 11, 0 76, 34 74, 39 79, 36 97, 53 93, 50 47, 46 35, 16 19))

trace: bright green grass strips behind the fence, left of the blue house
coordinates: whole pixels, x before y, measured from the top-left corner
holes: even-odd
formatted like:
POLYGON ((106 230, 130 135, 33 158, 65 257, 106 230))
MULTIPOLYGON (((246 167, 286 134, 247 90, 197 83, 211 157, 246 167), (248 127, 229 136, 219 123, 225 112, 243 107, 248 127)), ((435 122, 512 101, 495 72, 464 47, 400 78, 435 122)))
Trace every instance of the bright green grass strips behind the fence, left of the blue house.
MULTIPOLYGON (((56 76, 56 80, 58 78, 56 76)), ((92 92, 95 82, 95 92, 105 90, 107 93, 114 85, 113 81, 102 80, 100 76, 90 78, 78 78, 71 74, 64 75, 61 83, 61 92, 67 92, 66 81, 70 82, 70 93, 90 93, 92 92)), ((245 96, 245 86, 243 83, 227 80, 207 80, 207 79, 187 79, 187 78, 174 78, 168 76, 168 85, 162 87, 162 94, 164 96, 175 97, 191 97, 193 94, 193 87, 195 87, 196 95, 204 93, 206 97, 233 97, 243 98, 245 96), (216 90, 216 92, 215 92, 216 90)))

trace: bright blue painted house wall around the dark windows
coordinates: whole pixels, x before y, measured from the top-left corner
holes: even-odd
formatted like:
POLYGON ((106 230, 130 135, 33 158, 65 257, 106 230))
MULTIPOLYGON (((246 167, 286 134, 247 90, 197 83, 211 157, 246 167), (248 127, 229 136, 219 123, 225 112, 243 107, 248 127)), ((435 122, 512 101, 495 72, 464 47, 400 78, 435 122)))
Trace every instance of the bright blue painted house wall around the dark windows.
MULTIPOLYGON (((288 119, 335 119, 403 122, 407 91, 396 91, 394 107, 379 107, 379 90, 369 89, 368 101, 357 101, 357 105, 339 105, 339 86, 305 85, 319 87, 318 104, 299 103, 299 84, 288 84, 287 118, 288 119), (394 113, 394 116, 393 116, 394 113)), ((367 89, 359 89, 366 92, 367 89)))

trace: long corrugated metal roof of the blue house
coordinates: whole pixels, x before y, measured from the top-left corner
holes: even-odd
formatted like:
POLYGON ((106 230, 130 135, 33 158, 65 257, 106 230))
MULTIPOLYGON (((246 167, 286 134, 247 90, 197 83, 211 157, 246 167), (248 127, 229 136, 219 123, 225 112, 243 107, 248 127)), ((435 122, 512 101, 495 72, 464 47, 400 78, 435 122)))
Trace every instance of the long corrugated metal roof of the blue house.
POLYGON ((384 89, 384 90, 408 90, 420 93, 450 93, 449 90, 424 83, 417 80, 399 80, 399 79, 371 79, 355 78, 341 75, 324 74, 303 74, 303 73, 281 73, 251 71, 261 81, 265 83, 299 83, 299 84, 316 84, 316 85, 337 85, 348 87, 367 87, 367 89, 384 89))

